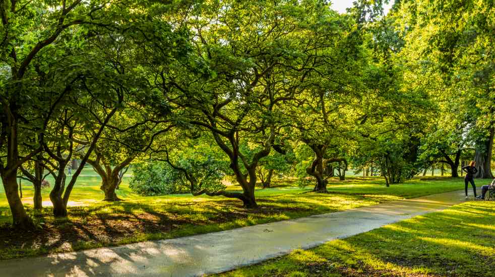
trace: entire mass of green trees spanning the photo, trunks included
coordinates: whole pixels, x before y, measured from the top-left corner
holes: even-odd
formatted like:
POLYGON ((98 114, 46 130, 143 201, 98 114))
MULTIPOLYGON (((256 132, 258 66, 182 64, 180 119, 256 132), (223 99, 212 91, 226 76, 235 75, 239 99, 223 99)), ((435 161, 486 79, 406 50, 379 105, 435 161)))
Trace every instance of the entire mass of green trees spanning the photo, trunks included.
POLYGON ((86 163, 107 201, 136 164, 140 194, 245 208, 277 174, 326 193, 335 170, 370 166, 388 187, 438 162, 458 176, 473 154, 492 177, 493 3, 386 3, 3 1, 0 175, 14 227, 33 228, 19 174, 36 209, 52 175, 65 217, 86 163))

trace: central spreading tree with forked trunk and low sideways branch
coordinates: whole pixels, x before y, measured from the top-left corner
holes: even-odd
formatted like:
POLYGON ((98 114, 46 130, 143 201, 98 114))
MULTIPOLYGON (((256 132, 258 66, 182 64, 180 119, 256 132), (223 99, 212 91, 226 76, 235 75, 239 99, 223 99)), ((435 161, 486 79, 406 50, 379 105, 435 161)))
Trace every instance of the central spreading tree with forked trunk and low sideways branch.
POLYGON ((211 133, 243 190, 210 195, 256 208, 257 167, 286 125, 283 106, 305 89, 307 74, 318 62, 315 56, 326 47, 317 25, 325 24, 328 6, 321 1, 219 1, 195 13, 188 18, 196 55, 191 73, 179 67, 158 79, 167 85, 167 100, 184 109, 184 121, 211 133), (242 144, 259 147, 248 158, 242 144))

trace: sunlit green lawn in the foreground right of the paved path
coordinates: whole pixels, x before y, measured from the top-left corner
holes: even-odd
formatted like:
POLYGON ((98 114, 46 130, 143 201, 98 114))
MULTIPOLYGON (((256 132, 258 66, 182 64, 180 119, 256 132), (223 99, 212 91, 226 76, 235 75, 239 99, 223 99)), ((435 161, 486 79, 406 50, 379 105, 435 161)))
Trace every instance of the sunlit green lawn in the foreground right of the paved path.
POLYGON ((495 202, 476 201, 218 276, 493 276, 494 272, 495 202))

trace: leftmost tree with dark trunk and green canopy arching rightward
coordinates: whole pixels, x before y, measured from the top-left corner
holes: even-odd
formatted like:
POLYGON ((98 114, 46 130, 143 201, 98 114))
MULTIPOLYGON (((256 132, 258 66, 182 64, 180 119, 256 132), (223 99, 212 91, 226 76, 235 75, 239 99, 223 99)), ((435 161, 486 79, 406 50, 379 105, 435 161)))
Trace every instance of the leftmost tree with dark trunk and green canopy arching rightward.
MULTIPOLYGON (((113 82, 122 76, 122 72, 110 72, 108 69, 112 64, 105 63, 102 54, 99 59, 92 59, 98 54, 88 42, 109 35, 128 37, 138 41, 141 48, 155 47, 156 51, 167 52, 171 58, 180 55, 184 52, 179 42, 184 40, 177 37, 182 38, 183 33, 173 29, 161 16, 161 12, 167 10, 168 5, 159 1, 12 0, 0 4, 0 104, 3 111, 0 116, 0 175, 15 227, 33 227, 18 194, 17 172, 22 164, 51 147, 71 148, 71 126, 90 123, 70 122, 72 114, 79 113, 79 119, 84 118, 83 113, 106 114, 98 121, 100 126, 106 125, 128 93, 129 87, 119 85, 132 78, 113 82), (120 96, 114 98, 112 93, 105 96, 107 91, 103 90, 108 87, 120 96), (105 108, 91 110, 91 103, 105 108), (66 112, 70 114, 68 120, 64 118, 66 112), (63 130, 50 133, 50 124, 58 124, 63 130), (64 145, 61 140, 48 138, 61 133, 64 133, 61 139, 66 141, 64 145)), ((99 133, 100 130, 95 135, 99 133)), ((97 137, 92 138, 95 139, 97 137)), ((91 150, 89 147, 88 153, 91 150)), ((61 170, 60 162, 65 162, 67 157, 62 152, 51 151, 51 154, 54 155, 50 157, 58 162, 57 170, 61 170)), ((71 181, 68 189, 72 186, 71 181)), ((67 203, 66 199, 64 202, 67 203)))

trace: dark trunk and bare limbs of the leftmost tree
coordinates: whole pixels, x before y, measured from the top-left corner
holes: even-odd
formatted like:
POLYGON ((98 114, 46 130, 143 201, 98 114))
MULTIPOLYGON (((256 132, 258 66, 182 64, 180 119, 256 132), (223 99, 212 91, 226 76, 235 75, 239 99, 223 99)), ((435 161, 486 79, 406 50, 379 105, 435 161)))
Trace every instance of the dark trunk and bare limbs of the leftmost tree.
MULTIPOLYGON (((37 3, 26 2, 21 6, 21 2, 12 0, 10 1, 10 5, 6 4, 7 2, 2 2, 2 23, 3 26, 9 26, 11 18, 13 21, 22 19, 18 15, 22 14, 19 11, 27 9, 31 9, 37 5, 37 3), (19 5, 18 5, 19 4, 19 5), (34 5, 34 6, 31 6, 34 5), (9 9, 6 10, 6 9, 9 9)), ((24 88, 21 87, 22 82, 26 80, 32 80, 33 77, 29 76, 29 79, 24 79, 24 75, 26 72, 29 72, 32 68, 31 62, 36 59, 38 53, 42 51, 43 48, 49 46, 53 42, 57 40, 57 38, 62 34, 66 29, 71 28, 75 25, 82 24, 92 24, 90 21, 86 20, 72 20, 71 22, 67 22, 66 19, 73 18, 72 11, 74 9, 78 10, 78 8, 83 5, 82 1, 75 1, 71 5, 66 6, 66 2, 63 2, 63 5, 59 5, 56 9, 56 14, 58 16, 53 17, 50 22, 47 22, 47 26, 53 26, 51 29, 47 29, 48 36, 38 39, 38 42, 31 46, 25 44, 24 42, 18 43, 19 40, 16 35, 6 33, 3 44, 12 45, 10 53, 8 56, 11 58, 8 62, 7 66, 10 67, 12 73, 12 84, 8 91, 8 94, 0 95, 1 108, 3 110, 3 115, 0 116, 2 118, 0 121, 2 123, 1 137, 0 137, 0 147, 2 149, 6 149, 7 157, 6 161, 0 161, 0 175, 2 176, 2 180, 4 182, 4 189, 7 196, 7 200, 9 202, 9 206, 11 207, 12 217, 13 217, 13 227, 14 228, 22 228, 22 229, 34 229, 35 226, 31 220, 31 218, 26 214, 24 207, 20 201, 18 195, 18 184, 17 184, 17 171, 20 166, 28 161, 34 155, 40 153, 42 151, 42 147, 39 147, 36 150, 33 150, 31 153, 26 156, 20 158, 19 157, 19 143, 18 143, 18 133, 20 131, 18 123, 25 122, 28 125, 26 130, 31 130, 34 132, 45 131, 46 124, 51 117, 55 107, 60 103, 58 98, 57 101, 53 105, 49 105, 50 110, 46 114, 45 123, 41 123, 38 125, 38 120, 40 122, 43 121, 38 115, 35 117, 30 117, 29 113, 33 113, 32 110, 28 112, 26 115, 19 114, 20 106, 22 105, 32 105, 28 103, 22 103, 20 99, 29 96, 29 91, 25 91, 24 88), (55 23, 55 24, 52 24, 55 23), (16 51, 22 49, 23 54, 18 55, 16 51), (22 57, 22 58, 21 58, 22 57), (8 95, 8 96, 7 96, 8 95), (19 97, 21 96, 21 97, 19 97), (35 127, 33 127, 35 126, 35 127), (7 138, 7 139, 6 139, 7 138), (5 163, 5 166, 4 166, 5 163)), ((82 16, 82 15, 81 15, 82 16)), ((9 28, 7 28, 9 29, 9 28)), ((6 29, 6 30, 7 30, 6 29)), ((39 93, 39 92, 34 92, 39 93)), ((63 95, 63 94, 62 94, 63 95)), ((51 103, 50 103, 51 104, 51 103)), ((36 104, 35 109, 39 109, 43 105, 36 104)), ((41 132, 43 134, 43 132, 41 132)), ((25 134, 23 134, 25 135, 25 134)))

